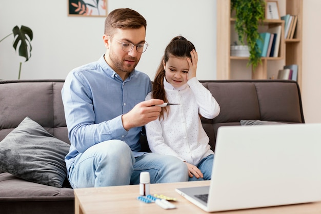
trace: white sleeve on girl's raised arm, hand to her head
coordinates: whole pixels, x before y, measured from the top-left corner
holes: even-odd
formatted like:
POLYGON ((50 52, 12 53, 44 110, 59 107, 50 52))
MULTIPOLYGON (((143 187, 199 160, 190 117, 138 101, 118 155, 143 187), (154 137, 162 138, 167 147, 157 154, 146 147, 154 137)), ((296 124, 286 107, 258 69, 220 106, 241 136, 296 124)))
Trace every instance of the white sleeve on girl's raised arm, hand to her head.
POLYGON ((196 77, 190 79, 187 84, 195 95, 199 108, 199 114, 207 119, 213 119, 219 114, 220 108, 211 92, 200 83, 196 77))

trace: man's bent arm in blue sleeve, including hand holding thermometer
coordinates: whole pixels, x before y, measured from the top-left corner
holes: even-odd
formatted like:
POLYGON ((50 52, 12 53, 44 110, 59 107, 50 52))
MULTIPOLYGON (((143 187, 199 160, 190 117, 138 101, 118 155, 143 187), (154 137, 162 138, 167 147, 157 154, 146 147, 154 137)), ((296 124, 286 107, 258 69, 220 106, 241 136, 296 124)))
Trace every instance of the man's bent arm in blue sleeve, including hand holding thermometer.
MULTIPOLYGON (((111 113, 107 106, 103 110, 100 108, 101 116, 97 120, 98 112, 95 112, 97 103, 94 108, 92 88, 93 86, 88 85, 84 76, 75 72, 67 76, 62 90, 69 139, 79 152, 103 141, 124 140, 131 128, 143 126, 159 114, 160 107, 152 105, 163 103, 161 100, 138 103, 124 115, 122 111, 111 113), (102 120, 102 115, 106 119, 102 120)), ((101 102, 113 101, 102 100, 101 102)))

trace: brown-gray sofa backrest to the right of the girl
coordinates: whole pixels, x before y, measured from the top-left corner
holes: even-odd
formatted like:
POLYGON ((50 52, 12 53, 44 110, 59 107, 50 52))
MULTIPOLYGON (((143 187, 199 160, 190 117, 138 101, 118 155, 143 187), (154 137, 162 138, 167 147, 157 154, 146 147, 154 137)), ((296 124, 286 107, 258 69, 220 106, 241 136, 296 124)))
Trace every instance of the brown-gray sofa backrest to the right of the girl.
POLYGON ((220 126, 240 125, 240 120, 305 123, 299 85, 288 80, 200 81, 220 106, 213 120, 202 118, 205 131, 215 148, 220 126))

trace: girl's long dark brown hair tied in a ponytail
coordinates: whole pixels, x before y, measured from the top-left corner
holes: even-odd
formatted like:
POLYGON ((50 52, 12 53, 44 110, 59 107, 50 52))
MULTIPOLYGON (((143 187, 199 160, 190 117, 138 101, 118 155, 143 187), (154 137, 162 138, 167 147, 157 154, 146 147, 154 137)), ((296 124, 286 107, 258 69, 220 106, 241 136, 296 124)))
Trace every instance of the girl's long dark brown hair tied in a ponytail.
MULTIPOLYGON (((186 38, 184 38, 183 36, 175 36, 174 38, 172 38, 171 42, 167 45, 164 56, 162 57, 162 61, 160 61, 160 64, 156 70, 152 89, 153 99, 160 99, 165 103, 168 102, 164 89, 164 63, 166 64, 169 57, 171 56, 191 58, 191 51, 193 49, 195 50, 194 45, 190 41, 186 40, 186 38)), ((164 119, 164 114, 165 112, 168 113, 168 111, 168 106, 166 108, 162 108, 162 111, 160 111, 159 114, 159 119, 164 119)))

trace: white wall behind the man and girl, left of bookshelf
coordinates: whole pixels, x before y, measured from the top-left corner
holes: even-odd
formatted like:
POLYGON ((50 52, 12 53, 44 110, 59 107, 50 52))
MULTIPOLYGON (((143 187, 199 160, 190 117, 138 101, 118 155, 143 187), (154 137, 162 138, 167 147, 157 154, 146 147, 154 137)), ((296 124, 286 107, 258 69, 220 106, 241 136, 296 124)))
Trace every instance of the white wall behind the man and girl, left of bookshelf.
MULTIPOLYGON (((137 69, 154 78, 166 45, 182 34, 199 55, 197 78, 216 79, 216 0, 108 0, 108 11, 128 7, 147 20, 147 51, 137 69)), ((74 67, 105 53, 105 17, 67 16, 67 0, 15 0, 0 3, 0 40, 15 25, 33 30, 32 56, 22 64, 21 79, 65 79, 74 67)), ((17 79, 19 62, 13 35, 0 43, 0 79, 17 79)))

